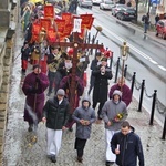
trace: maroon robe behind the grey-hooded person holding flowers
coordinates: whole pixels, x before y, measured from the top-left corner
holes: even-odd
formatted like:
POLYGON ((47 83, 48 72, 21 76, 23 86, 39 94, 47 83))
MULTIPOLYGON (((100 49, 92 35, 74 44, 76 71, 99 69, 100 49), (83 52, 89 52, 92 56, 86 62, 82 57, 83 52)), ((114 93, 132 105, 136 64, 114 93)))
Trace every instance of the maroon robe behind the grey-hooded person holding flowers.
MULTIPOLYGON (((113 92, 115 90, 121 91, 121 86, 118 84, 115 84, 111 87, 110 94, 108 94, 110 98, 112 98, 113 92)), ((131 92, 131 89, 126 84, 122 86, 122 101, 126 103, 126 106, 128 106, 129 103, 132 102, 132 92, 131 92)))

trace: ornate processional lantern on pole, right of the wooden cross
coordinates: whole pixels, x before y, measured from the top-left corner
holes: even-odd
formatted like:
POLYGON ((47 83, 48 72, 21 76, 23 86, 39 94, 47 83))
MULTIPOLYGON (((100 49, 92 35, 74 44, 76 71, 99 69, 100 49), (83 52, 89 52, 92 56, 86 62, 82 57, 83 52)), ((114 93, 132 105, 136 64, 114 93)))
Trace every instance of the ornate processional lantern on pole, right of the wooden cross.
MULTIPOLYGON (((124 65, 125 65, 125 61, 128 58, 128 51, 129 51, 129 46, 127 46, 126 41, 123 42, 123 45, 121 46, 121 59, 122 59, 122 77, 121 77, 121 82, 123 83, 123 77, 124 77, 124 65)), ((122 91, 122 86, 121 86, 121 91, 122 91)))

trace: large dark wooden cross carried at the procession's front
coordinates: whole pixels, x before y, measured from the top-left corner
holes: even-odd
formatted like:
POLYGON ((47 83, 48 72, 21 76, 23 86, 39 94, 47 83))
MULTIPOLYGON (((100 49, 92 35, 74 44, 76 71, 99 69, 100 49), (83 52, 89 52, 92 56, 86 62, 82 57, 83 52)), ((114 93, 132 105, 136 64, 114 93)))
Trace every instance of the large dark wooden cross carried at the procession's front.
MULTIPOLYGON (((70 46, 73 48, 73 60, 72 60, 72 80, 71 80, 71 97, 75 98, 75 75, 76 75, 76 63, 77 63, 77 50, 79 49, 103 49, 103 44, 87 44, 79 42, 79 33, 73 32, 73 42, 54 42, 52 46, 70 46)), ((74 103, 71 102, 71 113, 74 111, 74 103)))

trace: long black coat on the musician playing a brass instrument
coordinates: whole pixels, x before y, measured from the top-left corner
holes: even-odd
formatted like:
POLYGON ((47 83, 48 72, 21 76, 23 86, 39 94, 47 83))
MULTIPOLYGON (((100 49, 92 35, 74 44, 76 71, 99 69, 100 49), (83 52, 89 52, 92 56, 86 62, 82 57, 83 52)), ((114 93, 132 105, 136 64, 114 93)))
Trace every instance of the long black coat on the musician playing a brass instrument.
POLYGON ((96 70, 92 71, 92 75, 95 76, 93 102, 105 103, 107 101, 108 80, 112 79, 112 71, 106 68, 105 74, 101 74, 101 65, 96 70))

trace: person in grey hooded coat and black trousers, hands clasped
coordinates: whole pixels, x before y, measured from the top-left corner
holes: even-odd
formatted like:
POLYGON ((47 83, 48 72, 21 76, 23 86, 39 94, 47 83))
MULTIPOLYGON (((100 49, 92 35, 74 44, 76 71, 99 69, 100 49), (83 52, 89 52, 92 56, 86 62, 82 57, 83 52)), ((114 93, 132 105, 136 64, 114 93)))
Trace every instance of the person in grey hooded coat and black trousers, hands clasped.
POLYGON ((90 98, 83 97, 82 105, 72 115, 76 122, 75 149, 77 152, 77 162, 80 163, 83 162, 84 147, 91 135, 92 123, 96 120, 95 111, 90 105, 90 98))

